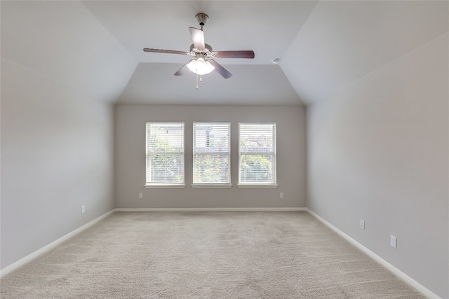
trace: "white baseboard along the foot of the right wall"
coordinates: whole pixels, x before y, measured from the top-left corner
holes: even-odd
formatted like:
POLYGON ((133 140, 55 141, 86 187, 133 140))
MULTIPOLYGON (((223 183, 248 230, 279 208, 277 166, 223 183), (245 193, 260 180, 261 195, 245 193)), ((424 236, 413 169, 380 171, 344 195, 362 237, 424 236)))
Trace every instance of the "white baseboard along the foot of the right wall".
POLYGON ((366 253, 368 256, 370 256, 370 258, 373 258, 373 260, 377 261, 377 263, 380 263, 380 265, 383 265, 384 267, 386 267, 387 270, 396 274, 397 277, 399 277, 403 281, 406 281, 407 284, 409 284, 410 286, 415 288, 417 291, 419 291, 420 293, 425 295, 427 298, 441 299, 441 297, 436 295, 436 293, 430 291, 428 288, 426 288, 425 286, 423 286, 422 284, 417 282, 415 279, 408 276, 406 273, 402 272, 398 268, 394 267, 394 265, 391 265, 390 263, 388 263, 387 260, 384 260, 380 256, 377 256, 376 253, 374 253, 373 251, 370 251, 370 249, 368 249, 365 246, 363 246, 362 244, 358 243, 355 239, 352 239, 351 237, 349 237, 349 235, 346 235, 344 232, 342 232, 341 230, 336 228, 334 225, 330 224, 328 221, 326 221, 324 218, 322 218, 321 216, 316 214, 314 211, 311 211, 311 209, 306 208, 306 211, 308 211, 309 214, 311 214, 312 216, 317 218, 319 221, 324 223, 326 226, 328 226, 328 228, 330 228, 334 232, 337 232, 338 235, 340 235, 341 237, 346 239, 349 243, 353 244, 358 249, 363 251, 363 253, 366 253))

